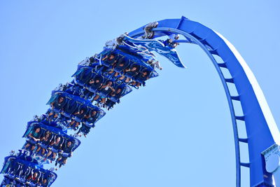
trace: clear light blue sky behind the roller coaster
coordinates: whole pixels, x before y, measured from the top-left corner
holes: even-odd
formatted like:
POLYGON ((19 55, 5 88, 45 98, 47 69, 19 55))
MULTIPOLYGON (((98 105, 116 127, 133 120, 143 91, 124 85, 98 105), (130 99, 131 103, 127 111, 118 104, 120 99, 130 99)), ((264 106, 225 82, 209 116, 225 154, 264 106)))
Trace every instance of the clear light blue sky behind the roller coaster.
MULTIPOLYGON (((181 15, 239 50, 280 124, 279 8, 277 0, 0 1, 0 158, 24 144, 27 121, 45 113, 51 90, 71 81, 78 62, 124 32, 181 15)), ((223 85, 200 48, 180 47, 188 69, 160 58, 161 76, 124 97, 82 138, 53 186, 235 186, 223 85)))

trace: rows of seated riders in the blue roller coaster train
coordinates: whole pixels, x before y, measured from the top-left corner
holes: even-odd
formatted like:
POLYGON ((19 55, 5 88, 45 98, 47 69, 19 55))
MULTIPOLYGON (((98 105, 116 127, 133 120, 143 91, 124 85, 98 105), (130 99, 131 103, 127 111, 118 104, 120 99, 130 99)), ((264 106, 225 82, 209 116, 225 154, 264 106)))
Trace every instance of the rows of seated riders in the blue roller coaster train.
MULTIPOLYGON (((159 62, 147 59, 118 49, 105 49, 80 62, 74 80, 52 92, 47 113, 27 125, 22 150, 29 151, 31 158, 41 159, 41 164, 55 161, 59 167, 65 165, 80 145, 76 137, 86 137, 94 123, 105 115, 99 107, 112 109, 132 88, 139 89, 148 79, 158 76, 155 68, 162 69, 159 62), (69 136, 63 131, 66 129, 77 132, 69 136)), ((6 170, 2 169, 6 186, 50 186, 50 172, 46 172, 49 170, 32 168, 28 162, 18 162, 18 157, 9 159, 5 162, 6 170)))

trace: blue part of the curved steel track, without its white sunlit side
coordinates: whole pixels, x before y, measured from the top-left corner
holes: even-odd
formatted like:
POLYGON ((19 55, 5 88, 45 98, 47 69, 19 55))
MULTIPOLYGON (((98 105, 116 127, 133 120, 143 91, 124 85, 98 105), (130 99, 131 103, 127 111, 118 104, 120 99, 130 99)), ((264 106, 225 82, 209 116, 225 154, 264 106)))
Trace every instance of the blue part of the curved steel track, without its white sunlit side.
MULTIPOLYGON (((143 36, 144 27, 130 32, 129 36, 133 38, 143 36)), ((197 44, 209 56, 221 78, 230 107, 235 139, 236 186, 241 186, 241 167, 250 169, 250 186, 273 186, 272 174, 266 172, 264 158, 261 153, 276 143, 275 135, 273 136, 272 130, 269 129, 265 115, 244 68, 232 52, 232 49, 222 39, 222 36, 219 36, 208 27, 184 17, 181 19, 161 20, 158 22, 158 27, 153 29, 153 32, 155 32, 153 39, 170 34, 181 34, 186 37, 187 41, 189 41, 188 43, 197 44), (214 55, 221 57, 223 63, 218 63, 214 55), (232 77, 225 78, 221 68, 228 69, 232 77), (228 83, 235 84, 238 95, 230 95, 228 83), (243 116, 236 116, 233 100, 240 102, 244 113, 243 116), (246 138, 239 137, 238 120, 244 121, 246 125, 246 138), (241 162, 240 160, 240 142, 248 144, 249 162, 241 162)))

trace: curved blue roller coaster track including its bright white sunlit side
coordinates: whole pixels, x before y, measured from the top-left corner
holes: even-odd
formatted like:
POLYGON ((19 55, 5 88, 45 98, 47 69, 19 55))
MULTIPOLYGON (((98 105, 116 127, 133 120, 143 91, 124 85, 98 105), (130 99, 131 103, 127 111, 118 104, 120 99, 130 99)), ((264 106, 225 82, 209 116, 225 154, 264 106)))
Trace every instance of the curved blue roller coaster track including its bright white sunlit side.
MULTIPOLYGON (((134 39, 144 36, 145 27, 146 25, 130 32, 128 36, 134 39)), ((186 39, 178 40, 177 43, 197 44, 213 62, 223 83, 230 107, 235 139, 236 186, 241 186, 241 167, 248 167, 250 170, 250 186, 274 186, 272 174, 278 168, 279 157, 275 157, 278 163, 273 166, 274 169, 267 168, 272 167, 269 156, 277 155, 279 152, 279 130, 251 69, 234 46, 221 34, 184 17, 161 20, 158 22, 158 27, 152 31, 153 39, 172 34, 183 35, 186 39), (217 57, 220 57, 223 62, 217 62, 217 57), (223 69, 228 69, 231 77, 225 77, 223 69), (231 94, 229 84, 235 85, 238 95, 231 94), (236 115, 234 102, 239 102, 243 115, 236 115), (239 137, 239 121, 244 123, 247 137, 239 137), (241 153, 241 142, 248 145, 248 153, 241 153), (249 161, 242 161, 241 154, 247 154, 249 161)), ((279 177, 275 175, 274 179, 277 181, 279 177)))

